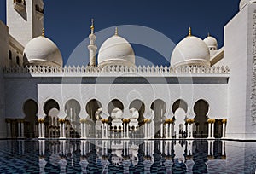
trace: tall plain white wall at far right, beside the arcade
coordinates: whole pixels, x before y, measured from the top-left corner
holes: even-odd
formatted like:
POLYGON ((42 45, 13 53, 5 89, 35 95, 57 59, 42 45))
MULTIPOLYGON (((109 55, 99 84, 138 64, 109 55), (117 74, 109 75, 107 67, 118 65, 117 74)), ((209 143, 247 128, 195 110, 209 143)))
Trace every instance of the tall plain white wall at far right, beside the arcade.
MULTIPOLYGON (((224 62, 230 67, 227 136, 255 138, 252 125, 253 10, 249 3, 224 27, 224 62)), ((255 84, 255 82, 254 82, 255 84)))

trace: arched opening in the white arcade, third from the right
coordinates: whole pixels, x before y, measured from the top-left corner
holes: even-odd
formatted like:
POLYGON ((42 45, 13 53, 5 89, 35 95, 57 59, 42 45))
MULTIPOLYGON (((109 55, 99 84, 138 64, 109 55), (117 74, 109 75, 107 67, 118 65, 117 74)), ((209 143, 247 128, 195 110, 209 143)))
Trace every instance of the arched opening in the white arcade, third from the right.
POLYGON ((151 104, 151 109, 154 111, 154 137, 160 138, 161 131, 163 132, 161 125, 163 124, 166 113, 166 102, 158 99, 151 104))

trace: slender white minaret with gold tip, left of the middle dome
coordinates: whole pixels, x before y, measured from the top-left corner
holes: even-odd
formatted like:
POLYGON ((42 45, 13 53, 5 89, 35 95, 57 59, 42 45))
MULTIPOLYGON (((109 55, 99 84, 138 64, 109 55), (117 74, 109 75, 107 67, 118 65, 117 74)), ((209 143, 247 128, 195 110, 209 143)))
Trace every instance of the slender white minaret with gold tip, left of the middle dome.
POLYGON ((94 20, 91 20, 91 26, 90 26, 90 45, 88 45, 88 49, 89 49, 89 56, 90 56, 90 66, 94 67, 96 66, 96 36, 94 34, 94 24, 93 24, 94 20))

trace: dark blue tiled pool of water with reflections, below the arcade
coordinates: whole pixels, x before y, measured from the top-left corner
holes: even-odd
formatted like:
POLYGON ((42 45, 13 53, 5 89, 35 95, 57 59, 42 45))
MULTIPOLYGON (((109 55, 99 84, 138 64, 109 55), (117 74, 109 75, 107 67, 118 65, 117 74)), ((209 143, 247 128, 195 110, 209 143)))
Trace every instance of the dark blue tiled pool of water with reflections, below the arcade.
POLYGON ((0 141, 1 173, 255 173, 256 142, 0 141))

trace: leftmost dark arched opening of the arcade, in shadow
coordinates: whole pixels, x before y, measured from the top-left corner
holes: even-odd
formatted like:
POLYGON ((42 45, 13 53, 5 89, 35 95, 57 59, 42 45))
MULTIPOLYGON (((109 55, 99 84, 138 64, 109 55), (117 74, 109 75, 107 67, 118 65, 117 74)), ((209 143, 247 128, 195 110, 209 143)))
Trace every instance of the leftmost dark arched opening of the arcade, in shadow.
POLYGON ((32 99, 27 100, 23 104, 23 112, 26 115, 24 119, 24 136, 26 138, 37 137, 38 126, 36 126, 36 124, 38 120, 38 103, 32 99))

